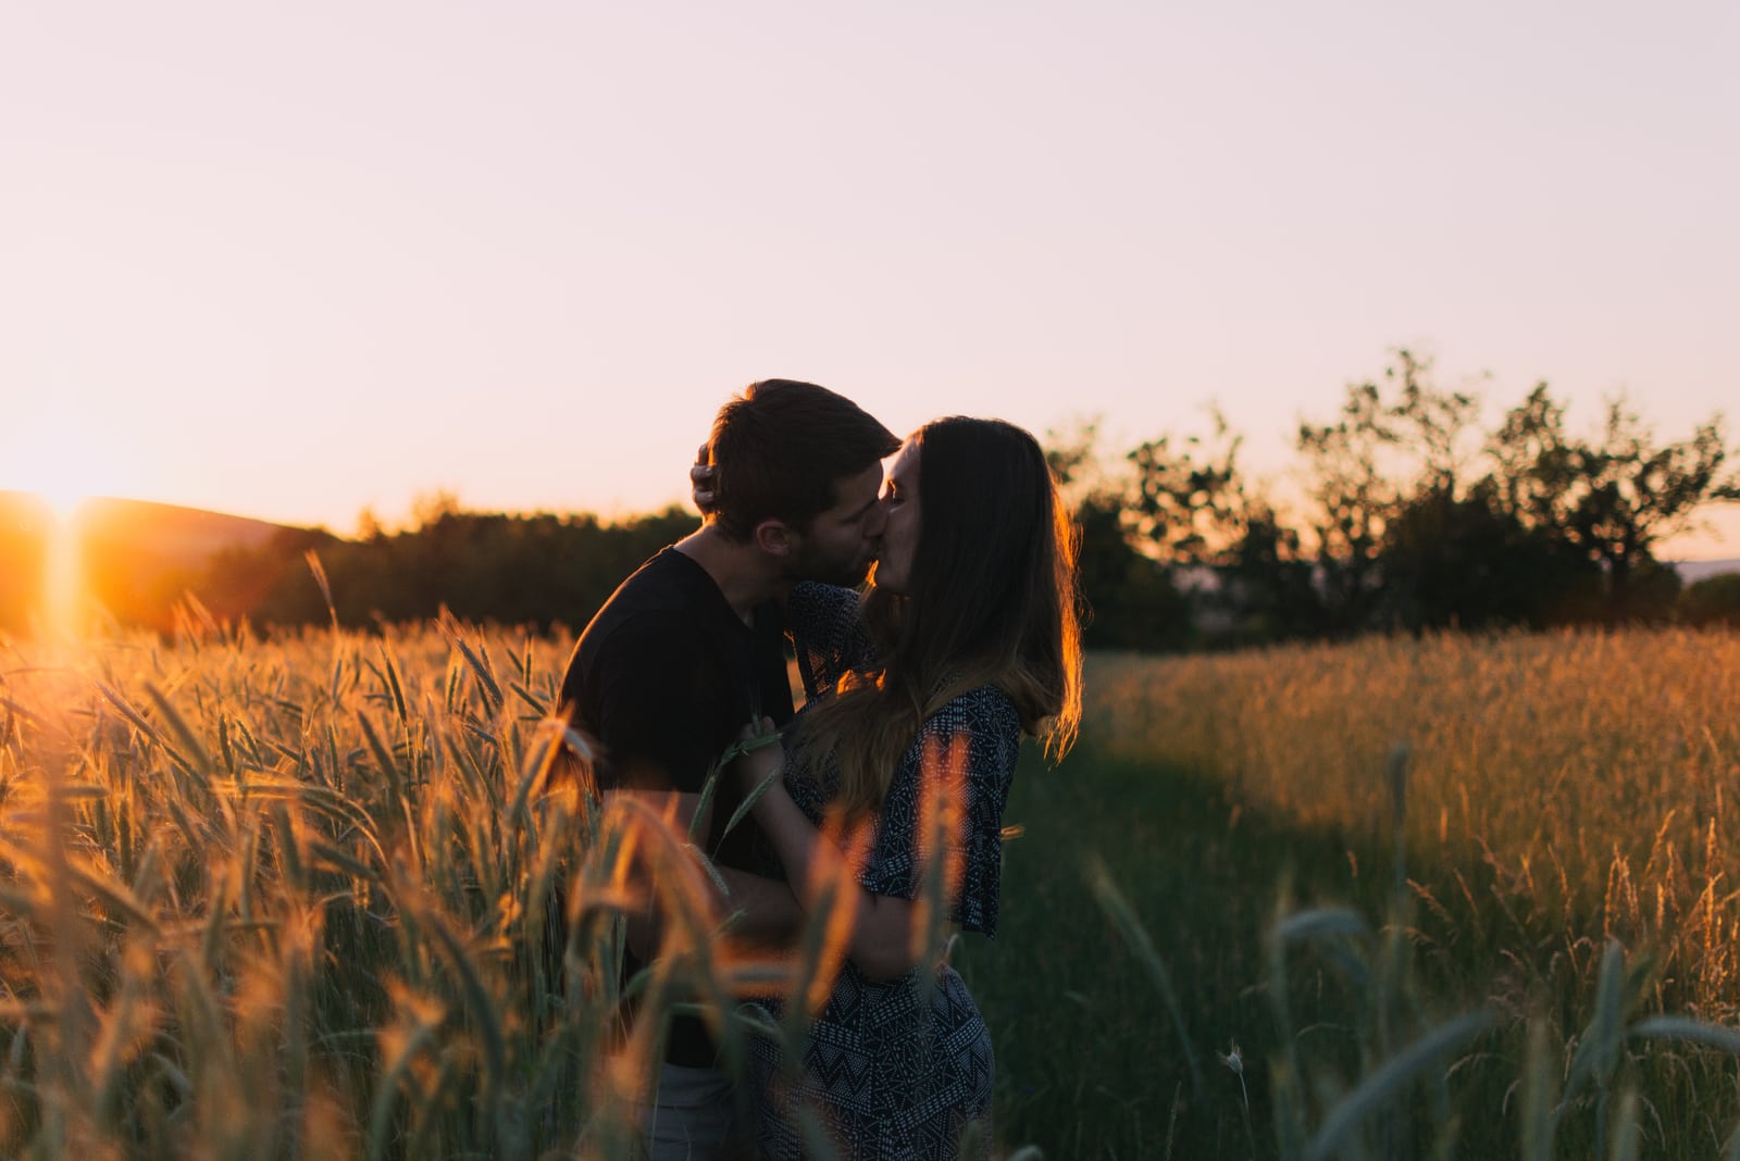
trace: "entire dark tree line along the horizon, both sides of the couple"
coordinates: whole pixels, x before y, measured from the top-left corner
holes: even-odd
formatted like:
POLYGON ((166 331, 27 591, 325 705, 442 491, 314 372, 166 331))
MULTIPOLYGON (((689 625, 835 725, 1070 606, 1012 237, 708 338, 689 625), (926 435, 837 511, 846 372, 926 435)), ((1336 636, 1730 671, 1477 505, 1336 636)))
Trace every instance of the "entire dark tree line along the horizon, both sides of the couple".
MULTIPOLYGON (((1335 414, 1298 424, 1286 494, 1246 469, 1242 436, 1218 415, 1204 435, 1162 435, 1121 455, 1103 454, 1093 422, 1051 433, 1047 455, 1082 527, 1088 643, 1190 650, 1373 631, 1740 626, 1740 575, 1683 587, 1656 558, 1710 504, 1740 501, 1719 417, 1658 441, 1618 400, 1576 433, 1547 384, 1496 419, 1484 414, 1479 395, 1437 386, 1429 360, 1397 351, 1382 375, 1350 384, 1335 414)), ((37 603, 45 554, 30 523, 0 520, 0 627, 23 627, 37 603)), ((351 539, 284 528, 197 567, 153 560, 150 530, 92 535, 85 579, 117 620, 158 629, 191 610, 256 626, 332 615, 371 626, 442 607, 468 620, 579 629, 640 561, 696 527, 675 506, 604 521, 473 513, 437 495, 404 530, 367 514, 351 539)))

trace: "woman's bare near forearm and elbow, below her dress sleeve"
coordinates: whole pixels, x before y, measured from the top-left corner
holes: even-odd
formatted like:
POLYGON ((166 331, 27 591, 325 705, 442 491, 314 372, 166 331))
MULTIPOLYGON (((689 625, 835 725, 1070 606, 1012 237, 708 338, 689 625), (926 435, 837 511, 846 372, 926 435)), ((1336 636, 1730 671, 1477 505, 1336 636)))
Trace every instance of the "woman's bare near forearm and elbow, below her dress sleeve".
MULTIPOLYGON (((877 895, 858 886, 846 852, 830 836, 816 829, 785 789, 780 772, 785 766, 785 747, 778 742, 750 751, 743 758, 741 775, 750 787, 767 782, 755 801, 755 822, 773 843, 799 906, 811 911, 816 895, 833 876, 851 879, 858 892, 858 911, 853 919, 847 958, 873 980, 893 980, 914 968, 910 899, 877 895)), ((835 879, 839 881, 839 879, 835 879)))

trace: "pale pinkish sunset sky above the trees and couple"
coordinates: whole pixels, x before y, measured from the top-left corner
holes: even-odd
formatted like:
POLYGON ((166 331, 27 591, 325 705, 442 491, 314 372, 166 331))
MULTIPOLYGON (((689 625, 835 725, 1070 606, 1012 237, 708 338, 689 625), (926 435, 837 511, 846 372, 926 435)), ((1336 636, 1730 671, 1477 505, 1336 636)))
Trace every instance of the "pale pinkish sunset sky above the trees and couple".
POLYGON ((762 377, 1218 403, 1284 483, 1401 346, 1733 445, 1735 59, 1731 0, 3 3, 0 488, 626 514, 762 377))

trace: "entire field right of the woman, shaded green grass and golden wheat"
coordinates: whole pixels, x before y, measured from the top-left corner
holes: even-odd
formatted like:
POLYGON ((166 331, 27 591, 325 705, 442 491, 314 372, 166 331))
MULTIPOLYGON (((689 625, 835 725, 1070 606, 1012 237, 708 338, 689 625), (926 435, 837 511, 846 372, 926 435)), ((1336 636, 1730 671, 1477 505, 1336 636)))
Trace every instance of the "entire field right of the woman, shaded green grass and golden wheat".
POLYGON ((1723 1156, 1740 638, 1096 657, 1089 692, 1075 754, 1023 770, 1004 930, 969 949, 1006 1140, 1723 1156))

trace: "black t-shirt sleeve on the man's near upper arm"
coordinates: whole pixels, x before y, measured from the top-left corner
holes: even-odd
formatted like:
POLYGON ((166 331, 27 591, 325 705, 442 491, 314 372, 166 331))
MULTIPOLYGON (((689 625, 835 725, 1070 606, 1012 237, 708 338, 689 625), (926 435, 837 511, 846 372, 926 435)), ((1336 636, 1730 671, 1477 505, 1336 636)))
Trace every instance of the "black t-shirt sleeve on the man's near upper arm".
POLYGON ((602 747, 600 789, 698 794, 719 758, 715 721, 729 704, 724 666, 705 634, 680 617, 642 614, 611 633, 581 699, 585 726, 602 747))

